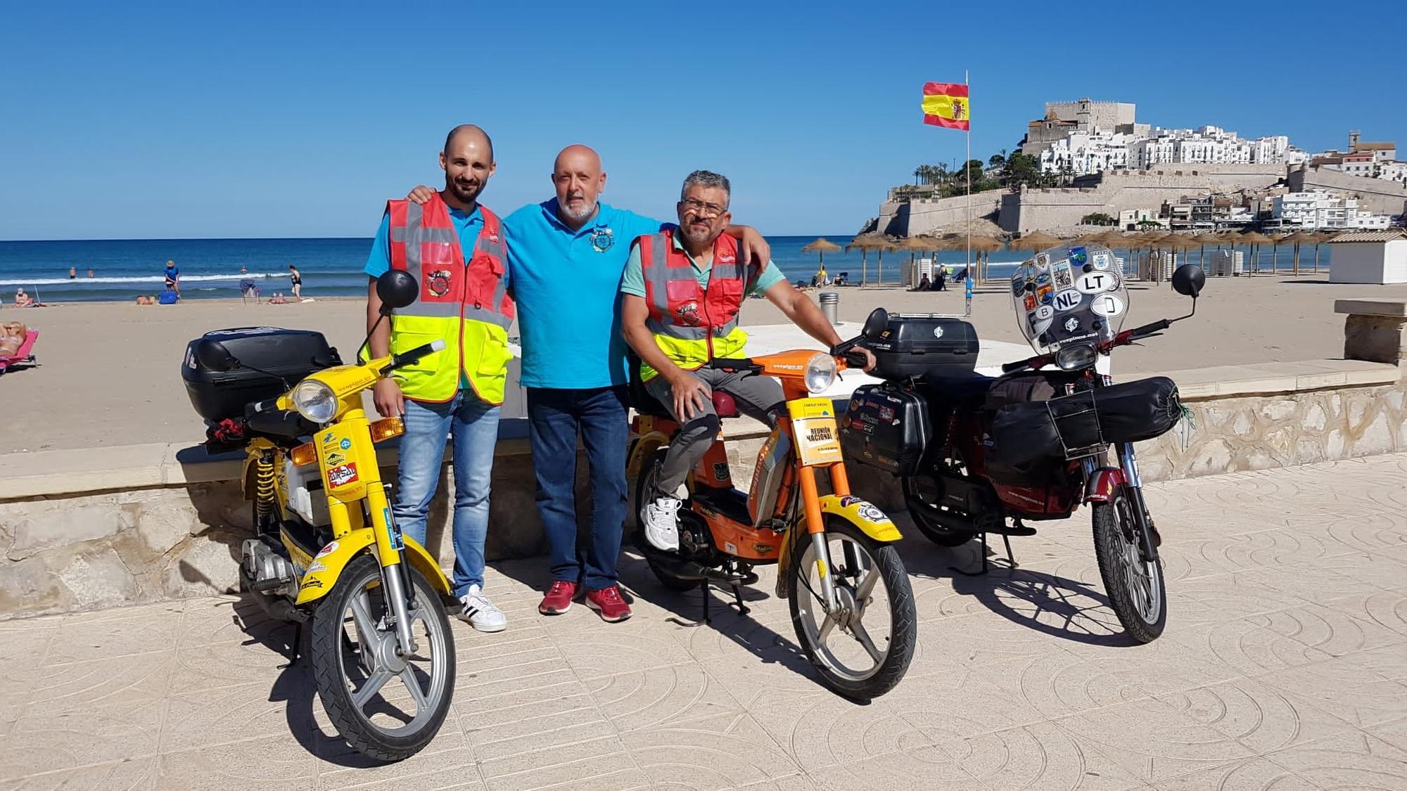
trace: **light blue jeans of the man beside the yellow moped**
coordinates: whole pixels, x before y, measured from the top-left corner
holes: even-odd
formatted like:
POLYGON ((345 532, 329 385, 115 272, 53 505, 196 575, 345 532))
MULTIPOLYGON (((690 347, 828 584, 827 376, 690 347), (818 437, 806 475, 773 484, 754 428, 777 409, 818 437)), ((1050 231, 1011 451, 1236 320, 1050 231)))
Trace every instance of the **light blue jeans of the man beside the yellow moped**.
POLYGON ((484 539, 488 536, 488 484, 498 442, 498 407, 473 390, 449 403, 405 400, 405 435, 397 473, 395 524, 425 546, 425 518, 445 464, 445 435, 454 442, 454 595, 484 587, 484 539))

